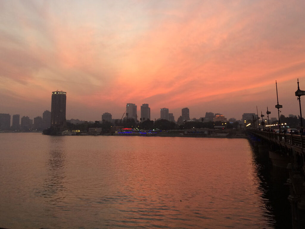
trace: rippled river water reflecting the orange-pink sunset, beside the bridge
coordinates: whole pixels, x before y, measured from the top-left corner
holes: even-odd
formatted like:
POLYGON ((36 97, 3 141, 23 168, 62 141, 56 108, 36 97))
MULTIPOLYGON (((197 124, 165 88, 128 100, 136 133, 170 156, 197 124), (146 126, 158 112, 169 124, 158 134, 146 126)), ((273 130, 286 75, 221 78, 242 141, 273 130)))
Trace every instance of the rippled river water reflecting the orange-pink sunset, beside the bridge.
POLYGON ((246 139, 0 134, 0 227, 289 228, 246 139))

